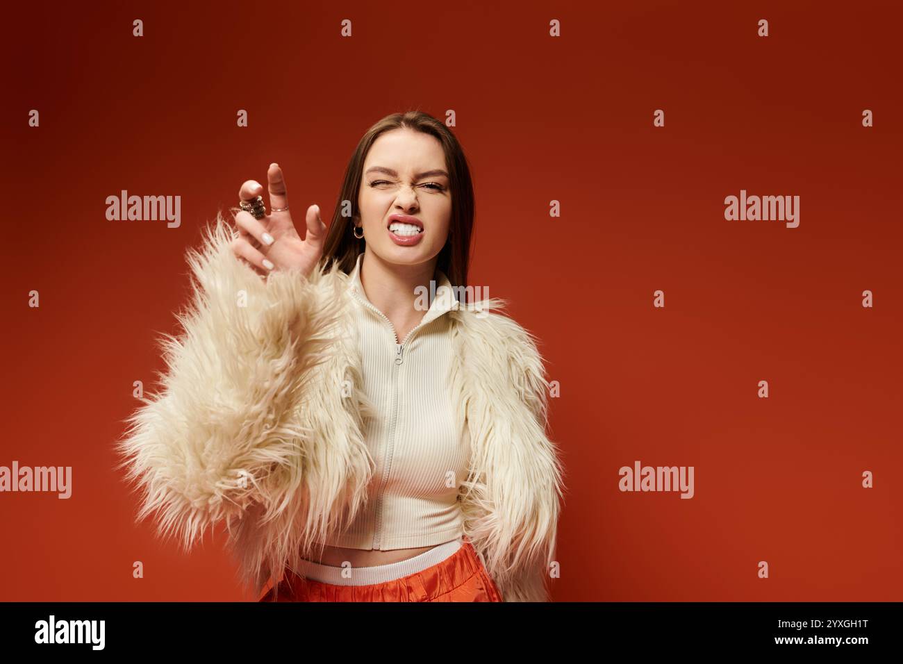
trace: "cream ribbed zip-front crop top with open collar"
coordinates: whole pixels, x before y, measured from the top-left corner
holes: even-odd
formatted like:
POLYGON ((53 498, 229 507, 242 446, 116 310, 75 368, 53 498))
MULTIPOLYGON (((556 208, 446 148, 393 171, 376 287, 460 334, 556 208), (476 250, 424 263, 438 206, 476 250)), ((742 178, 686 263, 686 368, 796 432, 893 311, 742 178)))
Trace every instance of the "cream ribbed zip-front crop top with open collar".
POLYGON ((457 497, 470 465, 469 440, 455 430, 448 384, 451 282, 436 270, 429 310, 399 340, 386 315, 367 299, 360 281, 363 257, 349 285, 357 303, 363 389, 378 414, 365 420, 362 431, 376 472, 354 521, 325 544, 381 550, 442 544, 463 533, 457 497))

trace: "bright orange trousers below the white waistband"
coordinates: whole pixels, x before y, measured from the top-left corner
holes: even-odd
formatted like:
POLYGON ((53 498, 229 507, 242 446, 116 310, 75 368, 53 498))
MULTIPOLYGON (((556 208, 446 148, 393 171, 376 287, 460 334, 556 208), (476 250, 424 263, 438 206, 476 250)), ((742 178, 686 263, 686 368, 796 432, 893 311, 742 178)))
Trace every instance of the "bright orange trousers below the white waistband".
POLYGON ((502 596, 464 541, 452 556, 422 572, 373 585, 333 585, 302 578, 290 570, 260 602, 502 602, 502 596))

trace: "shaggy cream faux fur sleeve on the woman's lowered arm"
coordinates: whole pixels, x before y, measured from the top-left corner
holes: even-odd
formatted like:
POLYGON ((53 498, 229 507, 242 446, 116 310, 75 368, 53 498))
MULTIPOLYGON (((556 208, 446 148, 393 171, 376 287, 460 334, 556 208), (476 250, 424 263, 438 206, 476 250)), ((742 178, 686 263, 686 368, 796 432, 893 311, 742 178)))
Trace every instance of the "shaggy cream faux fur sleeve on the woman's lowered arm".
POLYGON ((466 370, 456 383, 476 471, 461 503, 465 532, 505 601, 545 602, 563 467, 546 435, 544 359, 533 334, 497 313, 505 305, 492 298, 461 318, 473 342, 460 349, 466 370))

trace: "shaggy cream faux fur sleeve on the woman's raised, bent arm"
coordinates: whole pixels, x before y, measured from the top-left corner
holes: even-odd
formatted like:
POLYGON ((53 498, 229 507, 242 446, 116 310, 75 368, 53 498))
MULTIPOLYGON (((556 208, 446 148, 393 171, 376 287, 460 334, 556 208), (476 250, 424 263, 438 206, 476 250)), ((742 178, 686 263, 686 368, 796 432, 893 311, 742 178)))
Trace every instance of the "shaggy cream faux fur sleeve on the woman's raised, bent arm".
POLYGON ((182 331, 158 341, 158 391, 141 397, 116 441, 117 470, 142 494, 137 520, 156 513, 158 533, 186 550, 251 504, 273 516, 303 490, 311 432, 293 411, 343 311, 337 266, 259 276, 232 253, 235 237, 218 213, 200 250, 189 249, 182 331))

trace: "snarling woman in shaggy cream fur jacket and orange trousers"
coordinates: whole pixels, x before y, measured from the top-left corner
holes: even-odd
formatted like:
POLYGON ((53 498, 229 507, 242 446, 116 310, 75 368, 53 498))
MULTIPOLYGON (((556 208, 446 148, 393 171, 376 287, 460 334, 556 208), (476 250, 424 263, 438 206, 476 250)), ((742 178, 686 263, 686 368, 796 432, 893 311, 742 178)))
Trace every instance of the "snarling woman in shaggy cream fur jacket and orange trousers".
POLYGON ((421 112, 358 144, 329 232, 282 170, 218 215, 127 477, 186 550, 220 521, 265 601, 547 601, 562 469, 533 336, 467 302, 473 191, 421 112), (456 295, 458 294, 458 295, 456 295), (280 582, 280 578, 282 580, 280 582))

